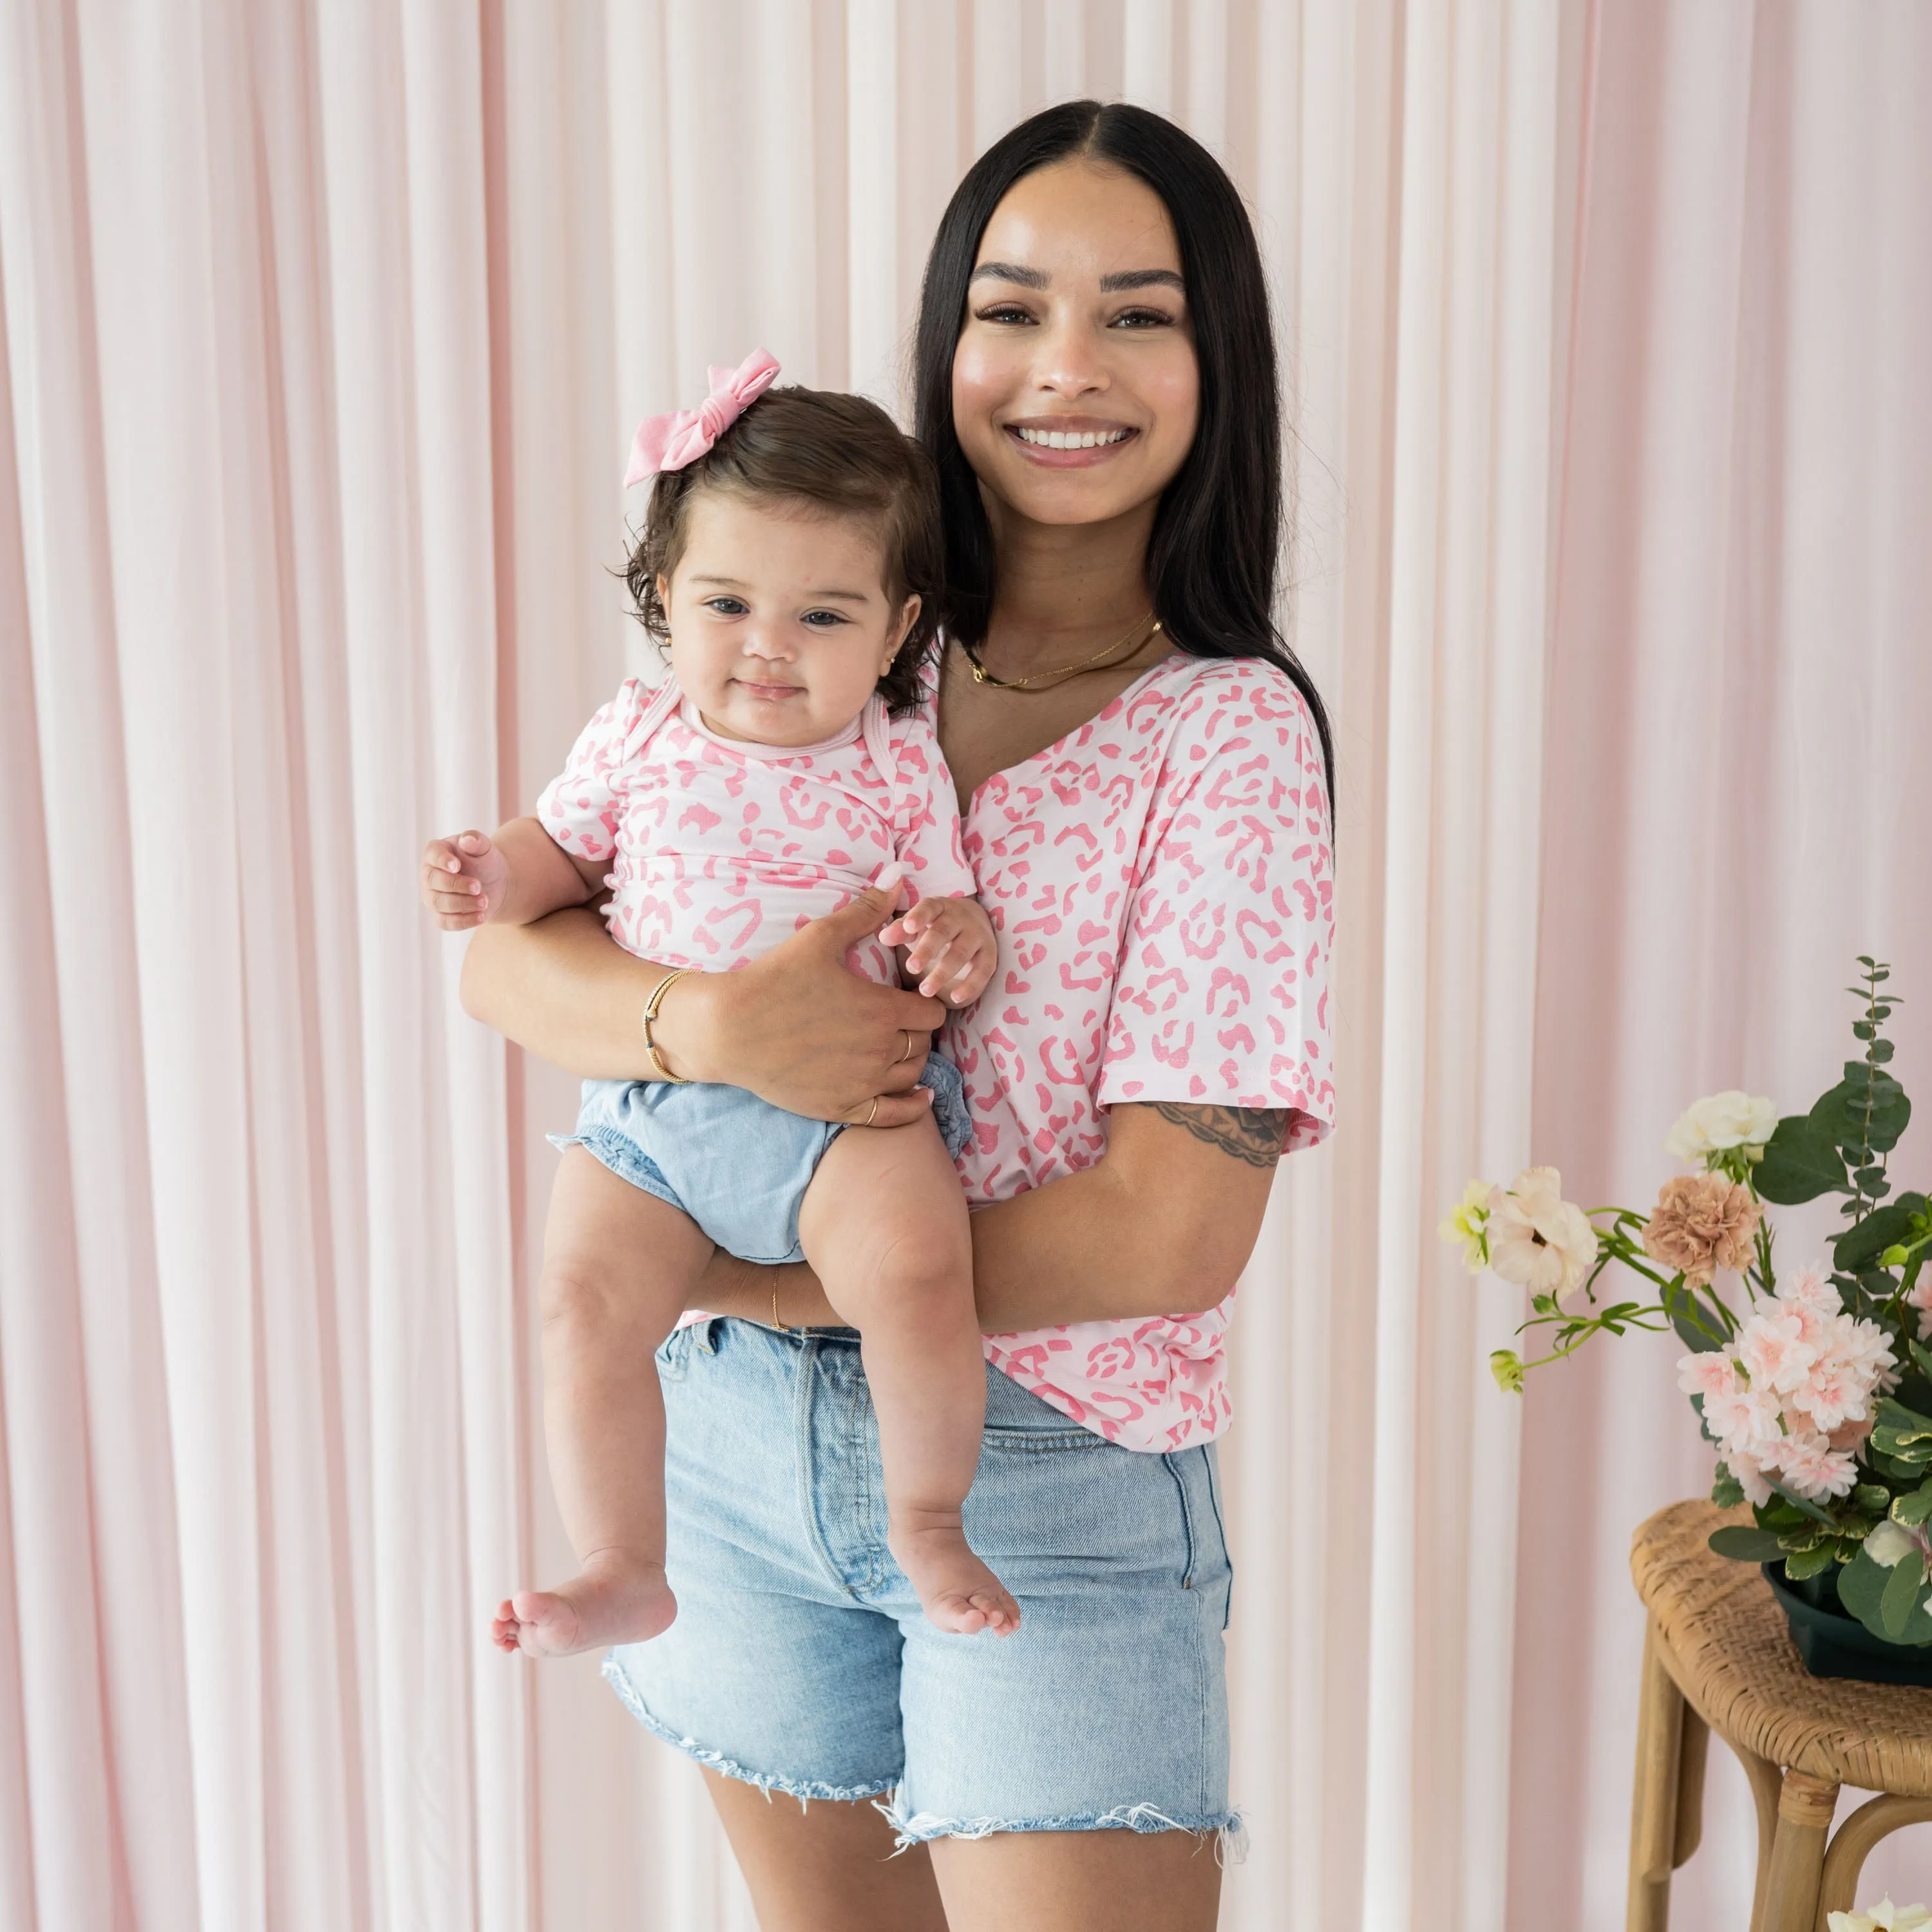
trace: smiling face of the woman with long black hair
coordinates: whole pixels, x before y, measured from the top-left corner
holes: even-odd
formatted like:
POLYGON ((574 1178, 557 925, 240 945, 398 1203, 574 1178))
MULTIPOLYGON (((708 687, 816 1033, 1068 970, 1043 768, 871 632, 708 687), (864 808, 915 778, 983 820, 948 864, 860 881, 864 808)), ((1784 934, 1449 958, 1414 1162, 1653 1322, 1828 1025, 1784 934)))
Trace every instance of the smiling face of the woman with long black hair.
POLYGON ((1200 369, 1167 207, 1065 160, 1016 182, 980 238, 952 423, 981 485, 1037 524, 1151 502, 1194 442, 1200 369))

